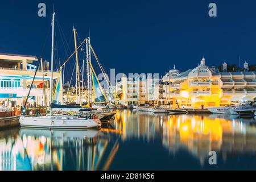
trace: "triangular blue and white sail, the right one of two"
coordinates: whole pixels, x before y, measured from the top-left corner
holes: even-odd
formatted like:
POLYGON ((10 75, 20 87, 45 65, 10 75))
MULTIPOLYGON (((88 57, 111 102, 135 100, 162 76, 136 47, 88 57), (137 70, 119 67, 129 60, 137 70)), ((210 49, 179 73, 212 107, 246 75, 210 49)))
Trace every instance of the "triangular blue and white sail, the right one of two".
POLYGON ((107 101, 105 93, 101 87, 100 81, 98 81, 96 73, 94 72, 92 64, 90 64, 90 67, 92 68, 91 74, 92 74, 92 82, 93 82, 94 103, 106 103, 108 101, 107 101))

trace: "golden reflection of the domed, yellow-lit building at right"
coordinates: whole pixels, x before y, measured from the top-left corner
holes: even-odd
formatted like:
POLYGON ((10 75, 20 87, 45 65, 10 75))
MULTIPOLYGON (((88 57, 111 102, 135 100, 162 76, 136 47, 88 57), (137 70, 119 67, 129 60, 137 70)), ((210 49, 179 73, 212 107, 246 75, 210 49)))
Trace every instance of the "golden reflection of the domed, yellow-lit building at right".
POLYGON ((172 116, 163 125, 163 144, 175 152, 187 148, 200 159, 209 158, 209 151, 228 154, 256 151, 256 128, 239 120, 201 116, 172 116))

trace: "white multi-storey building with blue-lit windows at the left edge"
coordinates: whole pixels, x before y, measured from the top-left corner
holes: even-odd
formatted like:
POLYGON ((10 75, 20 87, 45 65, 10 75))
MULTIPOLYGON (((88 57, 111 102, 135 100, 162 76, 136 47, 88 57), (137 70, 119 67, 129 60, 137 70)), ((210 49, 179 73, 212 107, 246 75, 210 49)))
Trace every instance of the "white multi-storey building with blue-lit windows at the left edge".
MULTIPOLYGON (((0 54, 0 104, 6 106, 23 106, 28 90, 35 75, 36 66, 32 63, 38 61, 35 56, 0 54)), ((50 72, 48 63, 44 63, 44 79, 46 81, 47 101, 49 101, 50 72)), ((59 73, 53 73, 53 78, 59 73)), ((31 105, 44 105, 43 75, 39 69, 30 92, 31 105)))

